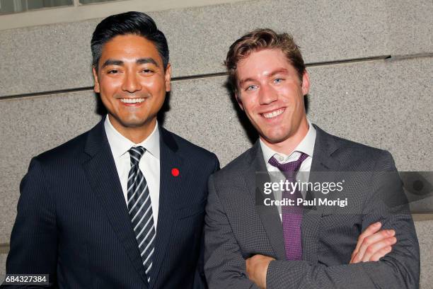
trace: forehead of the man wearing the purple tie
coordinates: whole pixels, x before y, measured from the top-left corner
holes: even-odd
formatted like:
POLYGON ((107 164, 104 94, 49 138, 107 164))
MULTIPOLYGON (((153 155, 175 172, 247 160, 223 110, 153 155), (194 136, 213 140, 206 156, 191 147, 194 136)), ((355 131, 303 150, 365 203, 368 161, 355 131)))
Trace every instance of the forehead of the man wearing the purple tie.
POLYGON ((267 76, 279 69, 294 72, 293 65, 287 60, 286 55, 280 49, 264 49, 253 51, 236 65, 238 80, 267 76))

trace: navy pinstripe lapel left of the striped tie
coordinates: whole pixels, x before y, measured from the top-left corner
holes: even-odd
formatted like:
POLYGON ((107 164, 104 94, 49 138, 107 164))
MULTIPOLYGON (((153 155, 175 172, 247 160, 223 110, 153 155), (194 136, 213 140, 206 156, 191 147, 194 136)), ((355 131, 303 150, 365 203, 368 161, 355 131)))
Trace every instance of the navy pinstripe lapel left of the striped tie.
POLYGON ((91 158, 83 162, 83 169, 134 268, 142 277, 143 282, 148 285, 137 241, 132 231, 122 186, 105 135, 104 120, 105 118, 88 132, 85 152, 91 158))

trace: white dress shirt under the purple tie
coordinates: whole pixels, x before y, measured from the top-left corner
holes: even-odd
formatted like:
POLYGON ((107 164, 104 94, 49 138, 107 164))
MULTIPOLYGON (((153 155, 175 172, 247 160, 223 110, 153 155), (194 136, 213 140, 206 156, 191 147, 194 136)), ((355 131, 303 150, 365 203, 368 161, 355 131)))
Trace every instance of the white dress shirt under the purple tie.
MULTIPOLYGON (((301 157, 301 152, 304 154, 308 154, 308 157, 302 162, 301 167, 299 168, 299 172, 296 174, 296 181, 300 181, 302 183, 308 182, 308 178, 310 175, 311 162, 313 162, 313 151, 314 151, 314 143, 316 142, 316 129, 311 125, 308 120, 308 132, 305 135, 304 139, 299 142, 299 145, 295 147, 291 154, 286 155, 281 152, 275 152, 273 149, 268 147, 265 142, 260 139, 260 147, 262 149, 263 159, 265 159, 266 169, 269 171, 270 179, 272 182, 279 182, 282 179, 285 179, 284 175, 278 168, 269 164, 269 160, 271 157, 275 157, 280 164, 286 164, 288 162, 295 162, 299 157, 301 157)), ((306 191, 301 191, 302 198, 305 198, 306 191)), ((277 190, 274 191, 275 200, 281 200, 282 192, 277 190)), ((281 218, 281 206, 277 206, 279 211, 279 217, 281 218)))

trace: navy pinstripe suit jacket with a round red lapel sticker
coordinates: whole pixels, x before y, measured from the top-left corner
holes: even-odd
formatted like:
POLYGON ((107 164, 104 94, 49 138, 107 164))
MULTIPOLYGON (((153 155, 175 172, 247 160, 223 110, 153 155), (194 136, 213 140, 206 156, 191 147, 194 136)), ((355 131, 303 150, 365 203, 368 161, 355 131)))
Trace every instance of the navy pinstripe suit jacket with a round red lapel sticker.
POLYGON ((204 288, 202 227, 215 154, 160 128, 161 183, 148 284, 103 126, 32 159, 21 182, 7 273, 54 288, 204 288), (179 176, 171 170, 177 168, 179 176))

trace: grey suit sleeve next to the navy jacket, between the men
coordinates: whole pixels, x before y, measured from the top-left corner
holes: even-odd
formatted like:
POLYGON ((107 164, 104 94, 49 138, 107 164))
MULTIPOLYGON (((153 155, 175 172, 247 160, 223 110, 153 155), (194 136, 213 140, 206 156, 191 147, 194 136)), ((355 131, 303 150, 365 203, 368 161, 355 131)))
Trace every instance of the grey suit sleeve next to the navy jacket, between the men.
POLYGON ((258 288, 246 275, 246 261, 219 201, 214 176, 209 179, 204 218, 204 273, 211 289, 258 288))

